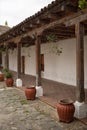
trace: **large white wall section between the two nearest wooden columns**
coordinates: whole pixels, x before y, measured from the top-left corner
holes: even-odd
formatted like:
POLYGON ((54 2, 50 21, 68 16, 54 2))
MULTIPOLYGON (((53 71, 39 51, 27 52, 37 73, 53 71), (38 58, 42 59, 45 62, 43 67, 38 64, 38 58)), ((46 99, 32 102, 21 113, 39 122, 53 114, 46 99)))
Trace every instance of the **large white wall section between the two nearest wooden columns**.
POLYGON ((62 40, 54 44, 57 44, 59 48, 62 47, 62 53, 60 55, 49 52, 49 48, 51 51, 51 47, 53 47, 52 45, 42 45, 42 53, 45 53, 45 71, 43 74, 44 78, 75 85, 75 39, 62 40))

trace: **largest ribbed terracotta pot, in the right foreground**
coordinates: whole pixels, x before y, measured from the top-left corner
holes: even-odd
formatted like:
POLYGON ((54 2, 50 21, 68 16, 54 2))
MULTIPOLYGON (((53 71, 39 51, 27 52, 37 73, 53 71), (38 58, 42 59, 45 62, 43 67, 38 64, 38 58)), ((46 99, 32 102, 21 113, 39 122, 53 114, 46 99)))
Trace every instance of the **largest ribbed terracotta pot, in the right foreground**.
POLYGON ((74 119, 75 106, 72 100, 63 99, 57 105, 57 112, 59 116, 59 121, 71 122, 74 119))

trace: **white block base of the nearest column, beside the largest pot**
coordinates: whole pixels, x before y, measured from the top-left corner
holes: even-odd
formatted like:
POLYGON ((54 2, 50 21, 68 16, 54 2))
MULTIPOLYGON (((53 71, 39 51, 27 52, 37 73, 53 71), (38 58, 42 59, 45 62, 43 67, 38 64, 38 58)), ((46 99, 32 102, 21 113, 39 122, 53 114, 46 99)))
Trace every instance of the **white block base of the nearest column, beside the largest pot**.
POLYGON ((87 104, 85 104, 84 102, 80 103, 76 101, 74 105, 75 105, 75 114, 74 114, 75 117, 77 118, 87 117, 87 104))

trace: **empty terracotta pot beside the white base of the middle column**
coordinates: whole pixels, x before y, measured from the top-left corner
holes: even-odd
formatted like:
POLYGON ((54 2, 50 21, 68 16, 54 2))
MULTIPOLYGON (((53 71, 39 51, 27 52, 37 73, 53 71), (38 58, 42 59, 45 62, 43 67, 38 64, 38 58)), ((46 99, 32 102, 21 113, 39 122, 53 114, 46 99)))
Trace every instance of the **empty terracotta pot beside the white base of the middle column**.
POLYGON ((25 95, 28 100, 34 100, 36 96, 36 88, 35 87, 25 88, 25 95))

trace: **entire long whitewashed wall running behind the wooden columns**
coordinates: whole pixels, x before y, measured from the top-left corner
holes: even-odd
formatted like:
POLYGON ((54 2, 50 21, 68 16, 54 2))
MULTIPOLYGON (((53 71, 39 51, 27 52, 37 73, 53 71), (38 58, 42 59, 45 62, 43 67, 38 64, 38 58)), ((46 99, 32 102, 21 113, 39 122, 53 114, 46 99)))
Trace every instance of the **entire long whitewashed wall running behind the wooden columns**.
MULTIPOLYGON (((85 88, 87 88, 87 37, 85 37, 85 88)), ((76 85, 76 40, 62 40, 58 43, 41 45, 41 53, 44 54, 45 68, 42 77, 62 83, 76 85), (62 48, 62 53, 53 53, 56 45, 62 48)), ((25 56, 25 73, 36 75, 35 46, 22 48, 22 56, 25 56)), ((4 56, 3 56, 4 57, 4 56)), ((17 52, 9 54, 10 69, 17 71, 17 52)), ((4 64, 4 60, 3 60, 4 64)))

